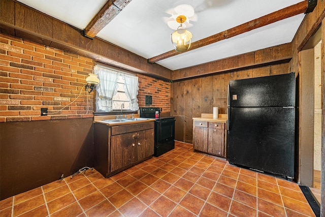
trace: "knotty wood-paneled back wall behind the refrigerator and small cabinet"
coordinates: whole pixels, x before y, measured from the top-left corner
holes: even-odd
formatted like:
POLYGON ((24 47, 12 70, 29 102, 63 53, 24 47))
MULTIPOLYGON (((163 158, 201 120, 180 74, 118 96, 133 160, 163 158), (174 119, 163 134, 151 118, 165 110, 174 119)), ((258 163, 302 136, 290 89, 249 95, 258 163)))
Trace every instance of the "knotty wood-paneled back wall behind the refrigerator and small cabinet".
POLYGON ((171 115, 176 117, 176 140, 192 143, 192 117, 212 113, 213 107, 219 107, 220 114, 227 113, 229 81, 289 72, 289 63, 284 63, 173 82, 171 115))

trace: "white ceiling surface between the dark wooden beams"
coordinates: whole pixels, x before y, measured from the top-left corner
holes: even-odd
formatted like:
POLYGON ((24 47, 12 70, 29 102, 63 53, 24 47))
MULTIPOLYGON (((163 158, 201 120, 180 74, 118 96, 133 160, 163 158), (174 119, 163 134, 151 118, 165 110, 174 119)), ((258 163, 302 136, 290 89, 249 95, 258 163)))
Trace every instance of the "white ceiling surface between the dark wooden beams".
MULTIPOLYGON (((18 0, 45 14, 84 29, 107 0, 18 0)), ((173 8, 193 6, 187 29, 192 42, 302 2, 302 0, 132 0, 97 37, 146 59, 173 50, 167 25, 173 8)), ((248 33, 160 60, 171 70, 195 66, 258 49, 291 42, 304 14, 296 15, 248 33)), ((185 23, 186 25, 186 23, 185 23)))

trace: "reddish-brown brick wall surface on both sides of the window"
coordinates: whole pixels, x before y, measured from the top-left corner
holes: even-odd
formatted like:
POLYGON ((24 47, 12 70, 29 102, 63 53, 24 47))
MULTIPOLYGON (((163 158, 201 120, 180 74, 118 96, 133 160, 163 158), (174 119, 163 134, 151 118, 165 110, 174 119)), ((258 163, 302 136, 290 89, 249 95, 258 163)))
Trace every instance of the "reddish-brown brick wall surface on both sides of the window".
MULTIPOLYGON (((84 85, 93 66, 92 59, 0 34, 0 122, 92 117, 93 93, 84 85), (41 116, 41 108, 49 114, 41 116)), ((139 106, 155 95, 151 106, 169 112, 170 83, 138 76, 139 106)))

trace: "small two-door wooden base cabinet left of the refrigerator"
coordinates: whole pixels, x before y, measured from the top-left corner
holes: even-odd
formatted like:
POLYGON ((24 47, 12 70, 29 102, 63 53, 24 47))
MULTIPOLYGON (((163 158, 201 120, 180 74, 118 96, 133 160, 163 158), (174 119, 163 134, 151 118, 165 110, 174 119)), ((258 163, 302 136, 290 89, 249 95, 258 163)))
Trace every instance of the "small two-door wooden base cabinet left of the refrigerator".
POLYGON ((225 123, 205 120, 193 121, 194 150, 226 157, 225 152, 225 123))

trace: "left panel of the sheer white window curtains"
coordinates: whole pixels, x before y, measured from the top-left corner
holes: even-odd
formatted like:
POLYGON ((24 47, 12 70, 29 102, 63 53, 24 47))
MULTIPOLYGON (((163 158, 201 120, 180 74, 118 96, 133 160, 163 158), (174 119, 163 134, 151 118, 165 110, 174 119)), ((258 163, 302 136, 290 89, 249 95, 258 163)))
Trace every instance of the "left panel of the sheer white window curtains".
POLYGON ((98 111, 113 110, 113 96, 117 92, 118 73, 102 67, 94 67, 94 72, 100 79, 100 85, 97 88, 98 111))

